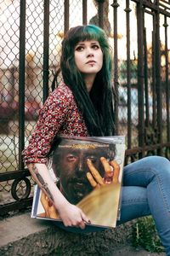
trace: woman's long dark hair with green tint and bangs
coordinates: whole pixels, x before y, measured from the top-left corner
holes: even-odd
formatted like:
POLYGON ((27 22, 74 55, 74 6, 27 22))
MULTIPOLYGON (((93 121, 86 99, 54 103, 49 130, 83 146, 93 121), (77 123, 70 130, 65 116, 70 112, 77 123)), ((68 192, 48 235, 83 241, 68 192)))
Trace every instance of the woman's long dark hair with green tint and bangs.
POLYGON ((111 50, 105 32, 98 26, 76 26, 62 42, 60 67, 65 84, 71 89, 90 136, 114 134, 113 88, 111 86, 111 50), (80 41, 95 40, 103 52, 103 67, 97 73, 88 94, 82 73, 75 64, 75 47, 80 41))

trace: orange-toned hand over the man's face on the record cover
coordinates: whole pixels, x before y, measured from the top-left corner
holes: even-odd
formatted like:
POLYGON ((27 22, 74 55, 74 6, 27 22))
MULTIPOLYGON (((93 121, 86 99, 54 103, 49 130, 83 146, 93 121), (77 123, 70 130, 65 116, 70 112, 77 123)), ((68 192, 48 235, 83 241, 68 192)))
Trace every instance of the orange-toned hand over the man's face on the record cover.
POLYGON ((100 176, 91 160, 87 161, 90 170, 90 172, 87 172, 87 177, 92 187, 100 187, 105 183, 119 183, 120 166, 116 163, 116 160, 108 162, 105 157, 101 157, 100 160, 105 169, 105 177, 100 176))

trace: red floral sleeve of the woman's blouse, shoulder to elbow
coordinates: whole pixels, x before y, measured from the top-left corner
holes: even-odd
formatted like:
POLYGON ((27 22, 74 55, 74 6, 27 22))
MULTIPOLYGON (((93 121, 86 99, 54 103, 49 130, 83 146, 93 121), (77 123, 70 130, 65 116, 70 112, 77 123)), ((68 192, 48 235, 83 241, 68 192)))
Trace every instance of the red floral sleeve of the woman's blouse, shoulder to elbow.
POLYGON ((39 113, 35 131, 28 147, 23 151, 24 161, 28 163, 46 163, 47 154, 54 137, 65 123, 71 109, 72 94, 68 90, 55 89, 44 103, 39 113))

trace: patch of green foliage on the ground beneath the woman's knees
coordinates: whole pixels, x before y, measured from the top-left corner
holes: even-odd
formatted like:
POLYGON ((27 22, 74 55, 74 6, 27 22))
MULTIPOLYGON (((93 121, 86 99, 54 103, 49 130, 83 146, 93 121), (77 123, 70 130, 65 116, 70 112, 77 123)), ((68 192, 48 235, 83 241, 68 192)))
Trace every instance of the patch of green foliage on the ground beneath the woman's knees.
POLYGON ((144 247, 149 252, 164 252, 153 218, 139 218, 133 225, 133 247, 144 247))

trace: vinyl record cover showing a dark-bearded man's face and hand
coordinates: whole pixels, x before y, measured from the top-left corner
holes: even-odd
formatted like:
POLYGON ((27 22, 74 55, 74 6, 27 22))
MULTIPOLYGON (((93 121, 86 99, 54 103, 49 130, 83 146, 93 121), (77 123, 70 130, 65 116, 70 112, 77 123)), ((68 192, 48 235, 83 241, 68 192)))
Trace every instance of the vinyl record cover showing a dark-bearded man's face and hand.
MULTIPOLYGON (((91 225, 116 227, 120 218, 125 137, 59 137, 48 168, 65 198, 91 225)), ((35 187, 32 218, 61 221, 47 195, 35 187)))

